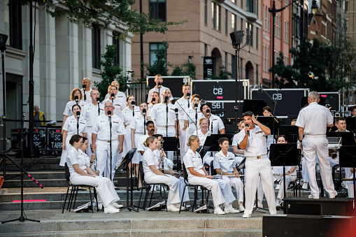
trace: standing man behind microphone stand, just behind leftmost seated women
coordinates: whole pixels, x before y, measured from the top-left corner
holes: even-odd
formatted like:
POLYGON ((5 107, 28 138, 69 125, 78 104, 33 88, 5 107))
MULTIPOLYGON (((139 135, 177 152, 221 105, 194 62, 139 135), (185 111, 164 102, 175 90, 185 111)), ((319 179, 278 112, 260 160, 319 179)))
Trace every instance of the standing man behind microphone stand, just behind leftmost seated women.
POLYGON ((92 127, 92 147, 97 151, 97 170, 100 171, 101 175, 104 173, 104 177, 113 180, 115 175, 115 164, 117 164, 118 155, 122 152, 124 134, 126 131, 124 129, 124 123, 120 117, 113 115, 114 107, 111 101, 105 103, 104 110, 105 115, 97 117, 94 126, 92 127), (111 117, 108 116, 108 111, 111 111, 111 117), (109 120, 111 120, 111 127, 109 120))

